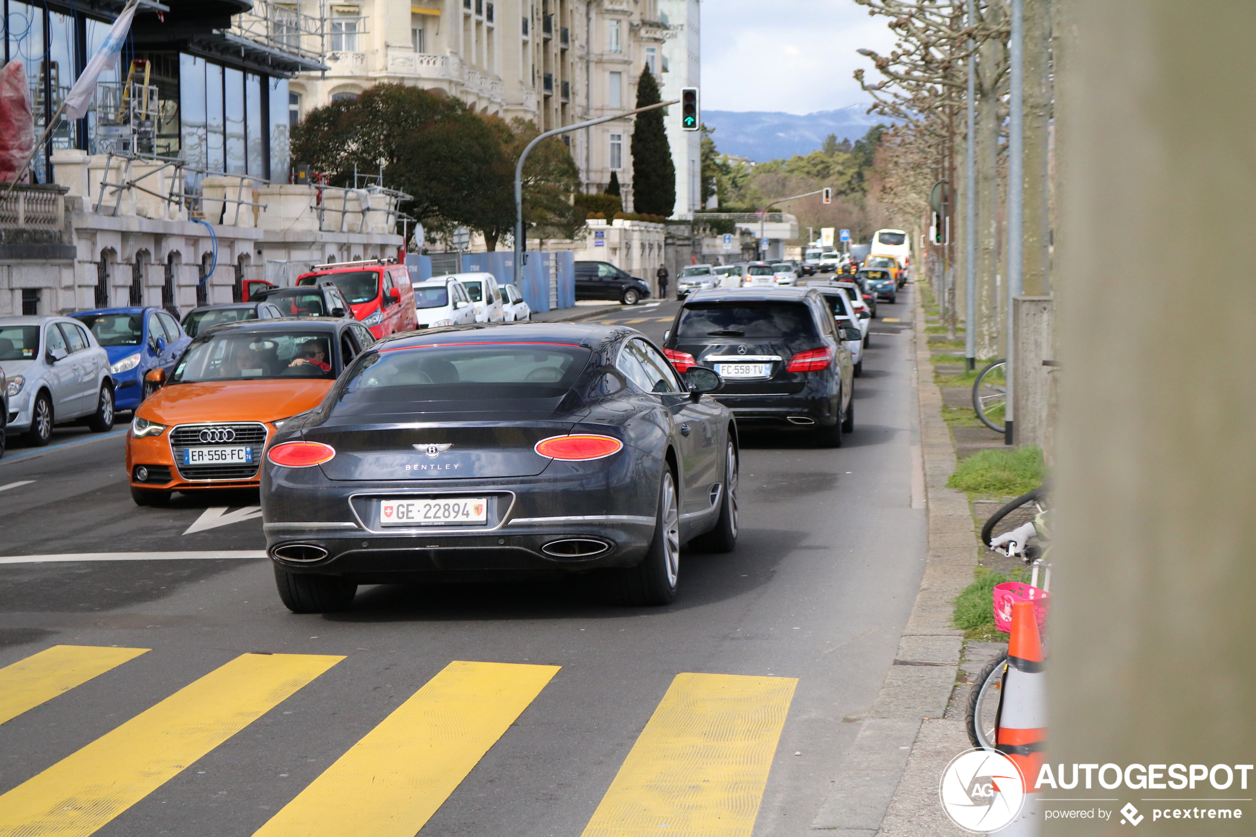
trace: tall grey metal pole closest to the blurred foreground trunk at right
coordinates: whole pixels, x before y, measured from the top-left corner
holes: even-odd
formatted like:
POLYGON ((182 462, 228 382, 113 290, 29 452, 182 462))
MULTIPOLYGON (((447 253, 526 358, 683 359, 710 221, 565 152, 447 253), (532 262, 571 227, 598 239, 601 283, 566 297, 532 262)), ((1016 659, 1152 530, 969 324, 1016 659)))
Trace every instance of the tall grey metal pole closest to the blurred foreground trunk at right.
POLYGON ((1021 295, 1021 276, 1024 267, 1022 241, 1025 227, 1025 13, 1024 0, 1012 0, 1012 31, 1009 38, 1009 59, 1011 64, 1011 112, 1007 120, 1007 364, 1004 375, 1007 380, 1006 405, 1004 407, 1004 444, 1012 444, 1012 360, 1015 359, 1016 334, 1012 323, 1015 299, 1021 295))

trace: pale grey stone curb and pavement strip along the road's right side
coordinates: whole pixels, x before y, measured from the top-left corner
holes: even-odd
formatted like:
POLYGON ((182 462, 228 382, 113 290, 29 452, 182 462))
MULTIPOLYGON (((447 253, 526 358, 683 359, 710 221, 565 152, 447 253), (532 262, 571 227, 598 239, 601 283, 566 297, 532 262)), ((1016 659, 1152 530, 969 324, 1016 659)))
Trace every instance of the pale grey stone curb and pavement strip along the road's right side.
POLYGON ((972 582, 977 537, 968 498, 946 487, 955 445, 933 384, 924 309, 918 297, 912 302, 928 552, 894 664, 811 823, 813 831, 842 837, 966 833, 947 819, 937 794, 946 764, 970 748, 962 713, 946 714, 963 649, 963 631, 951 626, 952 602, 972 582))

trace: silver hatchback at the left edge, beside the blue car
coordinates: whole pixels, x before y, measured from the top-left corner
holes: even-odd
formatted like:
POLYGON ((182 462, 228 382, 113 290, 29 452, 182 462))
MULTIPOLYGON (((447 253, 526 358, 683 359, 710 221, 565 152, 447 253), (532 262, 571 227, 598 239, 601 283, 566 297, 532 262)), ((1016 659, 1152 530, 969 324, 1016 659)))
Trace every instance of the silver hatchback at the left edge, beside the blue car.
POLYGON ((9 397, 6 433, 44 445, 60 422, 85 418, 97 433, 113 427, 109 355, 78 320, 0 317, 0 365, 9 397))

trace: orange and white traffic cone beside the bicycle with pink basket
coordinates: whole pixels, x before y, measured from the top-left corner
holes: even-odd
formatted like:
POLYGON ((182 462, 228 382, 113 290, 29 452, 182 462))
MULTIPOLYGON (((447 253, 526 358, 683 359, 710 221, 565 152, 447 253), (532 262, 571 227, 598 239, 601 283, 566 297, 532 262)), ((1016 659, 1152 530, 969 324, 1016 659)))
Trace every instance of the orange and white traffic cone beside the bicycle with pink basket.
POLYGON ((1007 674, 1004 675, 995 742, 1025 777, 1025 804, 1020 816, 999 831, 1000 837, 1037 834, 1040 814, 1034 783, 1042 768, 1046 747, 1046 675, 1042 674, 1042 639, 1037 632, 1034 602, 1012 605, 1012 632, 1007 645, 1007 674))

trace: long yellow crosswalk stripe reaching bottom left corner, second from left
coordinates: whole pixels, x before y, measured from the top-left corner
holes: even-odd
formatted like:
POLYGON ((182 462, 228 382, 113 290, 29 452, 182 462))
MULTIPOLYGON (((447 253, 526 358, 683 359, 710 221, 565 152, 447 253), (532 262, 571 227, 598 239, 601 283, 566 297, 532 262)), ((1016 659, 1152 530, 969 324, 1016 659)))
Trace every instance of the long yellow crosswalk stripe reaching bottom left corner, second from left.
POLYGON ((87 837, 343 659, 237 656, 0 797, 0 836, 87 837))

